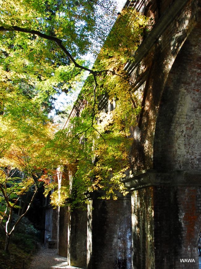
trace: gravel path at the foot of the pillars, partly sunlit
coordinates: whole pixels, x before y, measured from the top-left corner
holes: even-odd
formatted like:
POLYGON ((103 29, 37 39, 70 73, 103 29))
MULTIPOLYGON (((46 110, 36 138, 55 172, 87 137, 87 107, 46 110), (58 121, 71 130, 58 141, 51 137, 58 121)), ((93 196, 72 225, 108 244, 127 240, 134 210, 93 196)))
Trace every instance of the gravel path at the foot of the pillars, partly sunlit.
POLYGON ((41 247, 41 249, 33 256, 28 269, 51 268, 80 269, 78 267, 68 266, 67 258, 59 256, 57 254, 57 249, 41 247))

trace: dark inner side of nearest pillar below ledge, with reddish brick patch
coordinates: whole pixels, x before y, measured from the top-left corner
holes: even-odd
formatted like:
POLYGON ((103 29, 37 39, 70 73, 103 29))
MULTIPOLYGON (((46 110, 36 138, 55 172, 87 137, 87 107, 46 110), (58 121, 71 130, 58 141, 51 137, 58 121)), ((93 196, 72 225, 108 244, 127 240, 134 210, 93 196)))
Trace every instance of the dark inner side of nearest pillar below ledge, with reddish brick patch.
POLYGON ((201 187, 154 188, 155 268, 198 268, 201 187), (181 262, 180 259, 195 262, 181 262))

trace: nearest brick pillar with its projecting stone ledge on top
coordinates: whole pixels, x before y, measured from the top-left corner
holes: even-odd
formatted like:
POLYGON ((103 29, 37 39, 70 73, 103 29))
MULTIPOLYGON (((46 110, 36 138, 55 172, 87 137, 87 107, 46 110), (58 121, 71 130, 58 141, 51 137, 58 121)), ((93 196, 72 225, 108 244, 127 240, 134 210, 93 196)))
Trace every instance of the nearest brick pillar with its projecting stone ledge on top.
POLYGON ((201 174, 146 170, 124 180, 132 193, 134 269, 198 265, 201 174))

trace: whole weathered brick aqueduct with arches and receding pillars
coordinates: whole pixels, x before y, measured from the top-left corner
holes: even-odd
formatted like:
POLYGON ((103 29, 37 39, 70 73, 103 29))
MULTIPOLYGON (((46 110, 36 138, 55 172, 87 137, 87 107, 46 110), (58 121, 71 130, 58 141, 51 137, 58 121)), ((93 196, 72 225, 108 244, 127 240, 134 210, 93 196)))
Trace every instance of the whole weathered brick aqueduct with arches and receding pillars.
POLYGON ((48 209, 49 243, 57 242, 58 253, 81 268, 199 268, 200 1, 136 0, 126 6, 155 21, 135 61, 125 66, 142 95, 131 130, 133 174, 124 179, 130 194, 114 201, 96 193, 86 211, 48 209))

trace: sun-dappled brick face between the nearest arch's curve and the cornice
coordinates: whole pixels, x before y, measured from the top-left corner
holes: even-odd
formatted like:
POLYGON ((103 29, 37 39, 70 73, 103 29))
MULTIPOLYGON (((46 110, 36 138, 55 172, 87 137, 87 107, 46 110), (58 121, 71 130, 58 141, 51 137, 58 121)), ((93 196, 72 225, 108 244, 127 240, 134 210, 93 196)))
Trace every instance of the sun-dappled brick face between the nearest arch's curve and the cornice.
POLYGON ((139 73, 143 79, 143 72, 146 72, 139 126, 132 129, 134 143, 131 162, 135 172, 153 168, 154 133, 161 96, 179 50, 200 19, 198 2, 197 0, 188 2, 182 13, 172 20, 169 27, 153 44, 141 65, 138 65, 131 74, 135 82, 140 76, 139 73), (140 69, 140 66, 143 68, 140 69))

